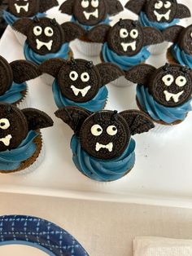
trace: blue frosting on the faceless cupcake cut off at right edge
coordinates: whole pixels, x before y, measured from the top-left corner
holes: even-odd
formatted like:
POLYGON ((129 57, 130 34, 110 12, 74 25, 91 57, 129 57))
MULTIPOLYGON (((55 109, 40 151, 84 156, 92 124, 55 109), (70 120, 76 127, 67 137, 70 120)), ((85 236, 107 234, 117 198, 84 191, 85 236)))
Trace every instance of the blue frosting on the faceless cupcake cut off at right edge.
POLYGON ((192 68, 192 55, 185 53, 185 51, 181 50, 180 46, 177 44, 172 45, 171 51, 173 57, 179 64, 192 68))

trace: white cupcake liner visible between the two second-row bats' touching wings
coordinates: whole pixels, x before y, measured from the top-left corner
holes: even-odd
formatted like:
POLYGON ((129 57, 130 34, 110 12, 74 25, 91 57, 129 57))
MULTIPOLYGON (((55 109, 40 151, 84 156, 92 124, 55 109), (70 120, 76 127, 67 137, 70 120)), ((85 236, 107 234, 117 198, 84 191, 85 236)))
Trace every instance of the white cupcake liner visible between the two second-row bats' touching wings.
POLYGON ((80 39, 76 39, 76 50, 80 51, 83 55, 87 56, 99 56, 102 51, 102 43, 97 42, 85 42, 80 39))

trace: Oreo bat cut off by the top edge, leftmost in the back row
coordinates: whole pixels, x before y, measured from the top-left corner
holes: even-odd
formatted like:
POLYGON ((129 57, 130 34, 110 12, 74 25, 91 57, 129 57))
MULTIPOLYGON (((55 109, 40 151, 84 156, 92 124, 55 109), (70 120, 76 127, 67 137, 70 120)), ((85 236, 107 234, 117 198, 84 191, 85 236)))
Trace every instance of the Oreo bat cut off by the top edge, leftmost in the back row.
POLYGON ((56 0, 8 0, 8 11, 18 18, 33 17, 58 5, 56 0))

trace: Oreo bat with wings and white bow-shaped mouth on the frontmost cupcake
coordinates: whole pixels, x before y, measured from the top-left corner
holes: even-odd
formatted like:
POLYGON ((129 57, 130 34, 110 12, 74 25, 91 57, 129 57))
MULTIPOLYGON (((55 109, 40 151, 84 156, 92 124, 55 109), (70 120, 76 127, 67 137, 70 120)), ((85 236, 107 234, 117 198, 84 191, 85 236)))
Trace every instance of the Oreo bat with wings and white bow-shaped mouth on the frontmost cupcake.
POLYGON ((127 148, 131 135, 154 127, 151 118, 137 110, 89 113, 83 108, 65 107, 55 115, 71 127, 72 121, 77 117, 79 121, 76 120, 74 131, 79 135, 81 147, 90 156, 101 160, 119 157, 127 148))

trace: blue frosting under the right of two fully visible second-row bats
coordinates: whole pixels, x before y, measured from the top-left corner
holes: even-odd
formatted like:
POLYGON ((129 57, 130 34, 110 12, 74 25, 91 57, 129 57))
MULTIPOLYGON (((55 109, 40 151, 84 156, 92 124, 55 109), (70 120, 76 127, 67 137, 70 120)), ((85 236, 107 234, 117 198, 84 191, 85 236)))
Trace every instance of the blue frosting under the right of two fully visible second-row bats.
POLYGON ((102 49, 103 60, 105 62, 111 62, 118 65, 123 70, 128 70, 134 65, 140 64, 141 62, 148 59, 151 53, 147 50, 147 46, 142 47, 142 50, 131 57, 126 55, 117 55, 115 51, 112 51, 108 46, 107 42, 103 44, 102 49))

